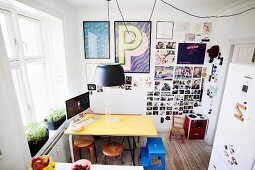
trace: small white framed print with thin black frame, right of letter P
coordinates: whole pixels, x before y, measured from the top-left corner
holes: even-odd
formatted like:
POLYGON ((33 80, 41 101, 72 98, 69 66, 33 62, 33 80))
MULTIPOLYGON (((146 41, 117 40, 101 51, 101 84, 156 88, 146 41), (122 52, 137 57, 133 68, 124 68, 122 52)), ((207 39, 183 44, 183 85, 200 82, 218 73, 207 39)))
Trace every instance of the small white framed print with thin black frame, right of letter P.
POLYGON ((157 21, 157 39, 173 39, 174 22, 157 21))

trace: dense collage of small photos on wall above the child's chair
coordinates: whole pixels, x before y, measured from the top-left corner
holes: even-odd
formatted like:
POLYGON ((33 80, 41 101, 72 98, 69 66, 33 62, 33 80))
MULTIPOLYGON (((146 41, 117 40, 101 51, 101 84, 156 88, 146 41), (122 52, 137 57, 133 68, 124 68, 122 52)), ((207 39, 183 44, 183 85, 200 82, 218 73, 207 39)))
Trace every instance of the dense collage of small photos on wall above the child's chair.
MULTIPOLYGON (((161 66, 155 66, 156 72, 161 66)), ((205 67, 198 66, 168 66, 171 77, 165 79, 160 74, 155 74, 155 84, 153 91, 147 93, 147 115, 160 115, 165 120, 170 120, 170 116, 192 114, 194 108, 201 105, 203 93, 202 73, 205 67)), ((162 71, 161 69, 160 71, 162 71)), ((160 72, 158 71, 158 72, 160 72)), ((161 123, 162 119, 160 120, 161 123)))

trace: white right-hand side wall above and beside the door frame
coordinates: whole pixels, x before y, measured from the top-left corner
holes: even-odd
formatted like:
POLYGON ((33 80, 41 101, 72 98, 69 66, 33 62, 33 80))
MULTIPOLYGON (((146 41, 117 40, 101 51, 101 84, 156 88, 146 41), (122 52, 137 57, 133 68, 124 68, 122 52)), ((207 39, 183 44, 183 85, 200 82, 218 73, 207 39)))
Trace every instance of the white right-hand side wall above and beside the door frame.
MULTIPOLYGON (((237 11, 250 8, 254 6, 255 2, 249 2, 246 4, 241 4, 237 7, 232 7, 224 11, 224 14, 235 13, 237 11)), ((210 124, 208 129, 208 134, 206 140, 208 143, 212 144, 214 140, 215 130, 217 126, 218 115, 221 107, 221 99, 224 90, 225 76, 227 74, 228 63, 231 60, 230 56, 230 46, 236 42, 242 42, 243 39, 251 39, 255 37, 255 10, 247 12, 245 14, 231 17, 231 18, 220 18, 216 19, 214 22, 214 36, 213 42, 220 46, 221 56, 224 57, 223 66, 219 67, 219 80, 218 80, 218 94, 213 99, 213 106, 210 118, 210 124), (235 41, 234 41, 235 40, 235 41), (239 41, 240 40, 240 41, 239 41)), ((248 41, 247 41, 248 42, 248 41)), ((210 67, 210 66, 209 66, 210 67)), ((238 80, 236 80, 238 81, 238 80)), ((235 83, 235 82, 233 82, 235 83)), ((208 103, 209 98, 206 96, 204 102, 208 103)), ((224 107, 224 106, 222 106, 224 107)), ((208 112, 210 106, 204 104, 204 113, 208 112)))

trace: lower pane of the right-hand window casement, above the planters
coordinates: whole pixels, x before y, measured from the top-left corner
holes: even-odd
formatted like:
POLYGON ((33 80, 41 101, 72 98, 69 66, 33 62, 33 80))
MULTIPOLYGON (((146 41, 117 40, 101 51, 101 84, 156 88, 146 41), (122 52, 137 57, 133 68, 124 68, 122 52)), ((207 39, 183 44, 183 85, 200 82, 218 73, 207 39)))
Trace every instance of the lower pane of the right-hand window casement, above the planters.
POLYGON ((44 62, 28 63, 27 73, 31 90, 34 113, 37 121, 42 121, 49 113, 44 62))

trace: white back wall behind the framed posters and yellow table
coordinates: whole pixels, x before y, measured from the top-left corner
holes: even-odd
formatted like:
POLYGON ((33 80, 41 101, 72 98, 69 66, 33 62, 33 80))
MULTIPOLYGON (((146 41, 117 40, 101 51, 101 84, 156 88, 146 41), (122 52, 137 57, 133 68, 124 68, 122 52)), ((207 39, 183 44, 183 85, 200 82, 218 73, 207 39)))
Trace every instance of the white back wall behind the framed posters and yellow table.
MULTIPOLYGON (((147 21, 149 20, 151 11, 123 11, 123 15, 126 21, 147 21)), ((198 12, 199 13, 199 12, 198 12)), ((202 13, 200 13, 203 15, 202 13)), ((111 59, 110 62, 114 62, 115 57, 115 44, 114 44, 114 21, 121 21, 121 15, 118 11, 110 11, 110 49, 111 49, 111 59)), ((94 83, 91 81, 86 81, 86 77, 93 77, 94 70, 86 70, 86 66, 89 63, 108 63, 109 60, 101 59, 84 59, 84 44, 83 44, 83 27, 82 21, 107 21, 107 10, 106 11, 82 11, 78 14, 79 23, 79 42, 80 42, 80 56, 83 58, 83 88, 86 91, 86 83, 94 83)), ((174 10, 160 11, 160 9, 155 9, 154 15, 152 17, 152 30, 151 30, 151 58, 150 58, 150 73, 128 73, 126 76, 131 75, 133 80, 140 82, 138 87, 132 87, 131 91, 123 89, 106 89, 103 93, 94 92, 91 98, 91 105, 95 112, 105 112, 106 104, 111 104, 113 113, 129 113, 129 114, 145 114, 146 113, 146 103, 147 103, 147 91, 153 91, 154 89, 154 68, 155 68, 155 44, 156 44, 156 21, 174 21, 174 22, 212 22, 212 19, 197 19, 174 10), (145 80, 150 78, 153 81, 151 87, 146 86, 145 80)), ((160 41, 160 40, 158 40, 160 41)), ((162 40, 163 41, 163 40, 162 40)), ((174 34, 173 40, 165 41, 176 41, 177 43, 183 42, 184 39, 180 39, 174 34)), ((208 43, 210 46, 210 43, 208 43)), ((205 61, 205 63, 207 60, 205 61)), ((91 79, 91 78, 89 78, 91 79)), ((169 132, 171 127, 171 121, 165 121, 164 124, 160 123, 161 116, 153 116, 158 131, 169 132)))

